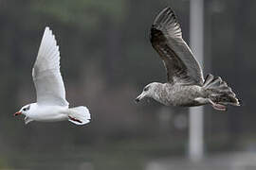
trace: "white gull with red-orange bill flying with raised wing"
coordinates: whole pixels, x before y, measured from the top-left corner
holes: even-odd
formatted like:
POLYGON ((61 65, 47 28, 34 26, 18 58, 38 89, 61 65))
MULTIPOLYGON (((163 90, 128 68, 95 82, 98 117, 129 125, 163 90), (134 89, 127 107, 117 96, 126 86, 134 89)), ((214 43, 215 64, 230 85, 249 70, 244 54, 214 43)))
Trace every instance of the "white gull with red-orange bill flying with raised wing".
POLYGON ((60 71, 60 52, 55 36, 49 27, 39 47, 32 69, 36 88, 36 103, 28 104, 14 113, 24 114, 25 123, 31 121, 56 122, 68 120, 76 125, 90 122, 89 110, 84 107, 69 108, 65 99, 64 80, 60 71))

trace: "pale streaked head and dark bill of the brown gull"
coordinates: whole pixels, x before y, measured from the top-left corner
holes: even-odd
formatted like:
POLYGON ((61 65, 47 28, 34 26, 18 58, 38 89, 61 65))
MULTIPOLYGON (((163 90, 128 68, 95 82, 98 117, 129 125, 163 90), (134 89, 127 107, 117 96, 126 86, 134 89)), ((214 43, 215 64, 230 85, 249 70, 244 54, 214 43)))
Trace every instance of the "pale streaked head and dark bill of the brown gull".
POLYGON ((142 100, 143 98, 146 97, 150 97, 150 98, 154 98, 157 99, 158 96, 158 87, 161 85, 161 83, 157 83, 157 82, 153 82, 150 83, 148 85, 146 85, 142 91, 142 93, 140 93, 137 98, 135 99, 136 102, 139 102, 140 100, 142 100))

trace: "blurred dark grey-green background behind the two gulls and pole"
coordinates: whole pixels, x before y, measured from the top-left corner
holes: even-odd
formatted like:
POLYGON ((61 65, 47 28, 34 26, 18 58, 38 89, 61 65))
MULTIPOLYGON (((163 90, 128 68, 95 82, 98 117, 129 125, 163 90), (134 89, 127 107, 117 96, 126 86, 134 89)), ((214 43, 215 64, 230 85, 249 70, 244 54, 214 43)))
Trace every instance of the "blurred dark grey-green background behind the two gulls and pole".
POLYGON ((227 112, 204 107, 204 157, 188 156, 189 114, 142 88, 166 81, 149 42, 155 15, 174 8, 190 42, 190 0, 0 0, 0 169, 255 169, 256 1, 204 1, 204 72, 243 100, 227 112), (24 124, 12 114, 36 100, 31 69, 46 26, 61 51, 70 106, 92 121, 24 124))

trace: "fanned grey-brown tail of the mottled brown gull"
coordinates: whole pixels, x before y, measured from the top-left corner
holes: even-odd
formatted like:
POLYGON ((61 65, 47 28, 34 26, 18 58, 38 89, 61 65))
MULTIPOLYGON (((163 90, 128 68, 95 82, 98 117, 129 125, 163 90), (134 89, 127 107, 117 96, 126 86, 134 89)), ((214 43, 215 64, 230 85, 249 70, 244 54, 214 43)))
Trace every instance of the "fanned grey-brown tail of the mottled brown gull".
POLYGON ((210 100, 216 104, 240 106, 235 93, 220 76, 206 76, 203 88, 209 93, 210 100))

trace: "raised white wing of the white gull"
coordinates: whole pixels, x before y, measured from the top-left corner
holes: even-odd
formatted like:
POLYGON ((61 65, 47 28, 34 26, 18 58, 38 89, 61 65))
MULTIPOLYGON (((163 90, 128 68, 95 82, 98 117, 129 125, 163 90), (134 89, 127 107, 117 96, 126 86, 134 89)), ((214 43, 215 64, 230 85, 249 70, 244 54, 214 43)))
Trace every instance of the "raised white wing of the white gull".
POLYGON ((60 72, 59 46, 49 27, 45 29, 32 76, 37 104, 68 106, 65 100, 64 80, 60 72))

